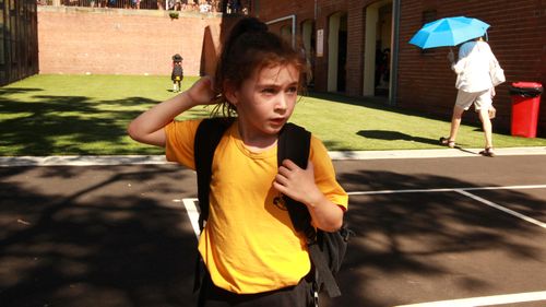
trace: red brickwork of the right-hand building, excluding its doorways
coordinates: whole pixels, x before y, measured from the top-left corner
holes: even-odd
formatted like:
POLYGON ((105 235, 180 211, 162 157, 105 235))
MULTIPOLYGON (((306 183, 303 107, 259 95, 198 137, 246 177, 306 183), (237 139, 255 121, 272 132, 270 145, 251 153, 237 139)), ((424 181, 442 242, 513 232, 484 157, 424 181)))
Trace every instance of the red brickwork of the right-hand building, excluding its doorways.
MULTIPOLYGON (((328 19, 336 12, 347 14, 347 72, 345 94, 363 94, 365 25, 364 14, 373 0, 305 0, 261 1, 257 12, 262 20, 296 14, 298 21, 316 17, 316 29, 324 29, 324 56, 316 58, 317 91, 328 88, 328 19), (297 3, 296 3, 297 2, 297 3), (314 2, 317 10, 314 10, 314 2)), ((397 105, 423 114, 450 118, 456 95, 455 75, 449 69, 446 56, 449 48, 422 52, 410 45, 413 34, 423 25, 423 12, 436 11, 437 19, 466 15, 491 24, 489 44, 499 59, 508 82, 497 87, 495 105, 497 130, 509 131, 511 97, 509 84, 514 81, 534 81, 546 85, 546 2, 536 0, 420 0, 401 1, 397 105)), ((456 48, 454 48, 456 51, 456 48)), ((546 135, 546 94, 543 94, 538 133, 546 135)), ((471 113, 465 120, 478 121, 471 113)))

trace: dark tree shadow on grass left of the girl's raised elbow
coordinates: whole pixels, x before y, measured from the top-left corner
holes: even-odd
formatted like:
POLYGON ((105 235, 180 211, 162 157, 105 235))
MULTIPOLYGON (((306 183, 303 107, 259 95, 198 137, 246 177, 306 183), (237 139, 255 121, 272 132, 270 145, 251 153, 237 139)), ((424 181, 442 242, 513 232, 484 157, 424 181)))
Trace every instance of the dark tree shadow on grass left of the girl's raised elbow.
MULTIPOLYGON (((2 88, 21 93, 27 88, 2 88)), ((31 91, 40 91, 31 88, 31 91)), ((154 147, 128 149, 127 125, 158 102, 145 97, 94 101, 85 96, 36 95, 36 101, 0 96, 0 144, 13 155, 150 154, 154 147), (136 109, 135 107, 143 106, 136 109), (67 145, 62 145, 62 144, 67 145), (96 143, 96 144, 94 144, 96 143), (85 146, 83 145, 85 144, 85 146)), ((198 111, 199 113, 199 111, 198 111)))

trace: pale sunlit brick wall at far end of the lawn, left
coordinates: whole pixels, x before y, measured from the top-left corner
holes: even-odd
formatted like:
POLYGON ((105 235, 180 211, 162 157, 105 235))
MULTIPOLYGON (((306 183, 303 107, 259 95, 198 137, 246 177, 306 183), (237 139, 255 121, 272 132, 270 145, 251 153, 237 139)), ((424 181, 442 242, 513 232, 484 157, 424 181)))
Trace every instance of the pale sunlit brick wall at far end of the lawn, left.
POLYGON ((187 75, 212 72, 224 28, 219 14, 40 7, 40 73, 170 74, 171 56, 187 75))

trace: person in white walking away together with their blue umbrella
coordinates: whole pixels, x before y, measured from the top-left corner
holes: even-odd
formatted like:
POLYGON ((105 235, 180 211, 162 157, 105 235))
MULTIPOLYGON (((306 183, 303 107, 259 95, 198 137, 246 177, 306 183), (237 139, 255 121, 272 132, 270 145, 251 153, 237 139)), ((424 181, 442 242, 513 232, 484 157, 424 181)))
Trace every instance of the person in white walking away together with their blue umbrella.
POLYGON ((425 24, 415 33, 410 44, 427 49, 458 46, 464 43, 459 49, 456 62, 453 51, 450 50, 448 54, 451 69, 456 73, 455 87, 459 92, 453 107, 450 134, 448 138, 440 138, 440 144, 449 147, 455 146, 461 117, 474 104, 485 134, 485 150, 479 154, 495 156, 490 120, 490 117, 495 116, 495 108, 492 108, 495 86, 490 72, 495 68, 491 63, 497 62, 497 59, 489 45, 483 39, 488 27, 489 24, 478 19, 444 17, 425 24))

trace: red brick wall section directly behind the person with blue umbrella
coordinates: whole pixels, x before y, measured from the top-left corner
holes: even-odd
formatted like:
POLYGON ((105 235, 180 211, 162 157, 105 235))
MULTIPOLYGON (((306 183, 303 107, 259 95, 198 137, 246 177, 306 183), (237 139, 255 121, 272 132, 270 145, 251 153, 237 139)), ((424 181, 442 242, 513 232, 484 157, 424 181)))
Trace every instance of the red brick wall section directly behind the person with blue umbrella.
MULTIPOLYGON (((546 84, 546 3, 544 1, 402 1, 400 26, 399 105, 404 108, 447 115, 456 95, 455 75, 446 60, 449 48, 422 52, 407 44, 422 26, 426 10, 437 17, 466 15, 491 25, 489 45, 505 69, 507 83, 497 86, 494 104, 498 110, 497 129, 510 129, 511 97, 509 84, 534 81, 546 84)), ((454 48, 456 51, 456 48, 454 48)), ((546 96, 543 95, 544 98, 546 96)), ((544 99, 543 99, 544 101, 544 99)), ((472 120, 476 116, 466 115, 472 120)), ((546 135, 546 107, 543 104, 538 132, 546 135)))

